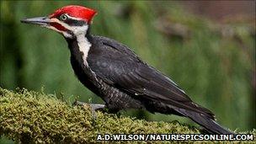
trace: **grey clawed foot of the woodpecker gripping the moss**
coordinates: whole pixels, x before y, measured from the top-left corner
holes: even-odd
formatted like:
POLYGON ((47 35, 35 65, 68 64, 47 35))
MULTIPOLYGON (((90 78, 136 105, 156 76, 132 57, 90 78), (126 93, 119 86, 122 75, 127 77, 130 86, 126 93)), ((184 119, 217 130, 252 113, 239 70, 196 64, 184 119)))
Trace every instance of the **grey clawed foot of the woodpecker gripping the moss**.
POLYGON ((88 104, 88 103, 83 103, 80 101, 75 101, 75 103, 73 105, 79 105, 82 107, 87 107, 89 105, 89 107, 91 108, 93 120, 95 120, 97 117, 96 110, 104 111, 104 109, 106 108, 105 104, 88 104))

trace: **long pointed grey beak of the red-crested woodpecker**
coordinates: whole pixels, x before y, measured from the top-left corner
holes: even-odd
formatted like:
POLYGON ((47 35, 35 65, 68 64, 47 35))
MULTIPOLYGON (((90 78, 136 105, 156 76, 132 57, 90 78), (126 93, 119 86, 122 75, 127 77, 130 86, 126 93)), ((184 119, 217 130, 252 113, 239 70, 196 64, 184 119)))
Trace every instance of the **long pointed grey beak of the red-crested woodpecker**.
POLYGON ((36 17, 36 18, 22 19, 20 20, 20 22, 27 23, 27 24, 38 24, 42 26, 47 26, 50 23, 50 19, 48 17, 36 17))

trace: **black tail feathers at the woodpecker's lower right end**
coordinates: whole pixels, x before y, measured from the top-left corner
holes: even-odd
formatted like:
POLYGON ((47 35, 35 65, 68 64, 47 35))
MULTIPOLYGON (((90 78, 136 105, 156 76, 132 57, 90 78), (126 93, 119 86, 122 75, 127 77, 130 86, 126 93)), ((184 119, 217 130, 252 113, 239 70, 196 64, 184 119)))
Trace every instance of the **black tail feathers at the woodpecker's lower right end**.
POLYGON ((178 109, 177 111, 179 111, 180 114, 189 117, 191 120, 194 120, 197 124, 203 126, 205 130, 211 134, 234 134, 232 131, 228 131, 226 128, 223 128, 221 125, 216 123, 216 121, 212 120, 209 116, 186 109, 178 109))

